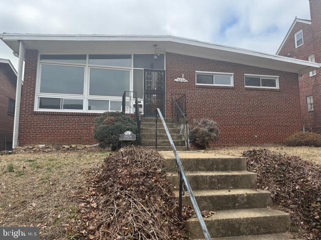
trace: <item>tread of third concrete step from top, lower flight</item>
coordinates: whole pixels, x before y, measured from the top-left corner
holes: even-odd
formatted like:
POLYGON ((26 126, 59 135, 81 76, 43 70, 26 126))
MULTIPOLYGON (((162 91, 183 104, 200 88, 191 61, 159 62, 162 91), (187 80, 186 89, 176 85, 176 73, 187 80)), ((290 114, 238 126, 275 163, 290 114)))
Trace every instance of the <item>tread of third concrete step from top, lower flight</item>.
MULTIPOLYGON (((179 191, 174 192, 176 196, 179 195, 179 191)), ((269 191, 259 190, 259 189, 214 189, 214 190, 193 190, 195 196, 217 196, 217 195, 244 195, 244 194, 270 194, 269 191)), ((189 197, 189 193, 186 191, 185 196, 189 197)))

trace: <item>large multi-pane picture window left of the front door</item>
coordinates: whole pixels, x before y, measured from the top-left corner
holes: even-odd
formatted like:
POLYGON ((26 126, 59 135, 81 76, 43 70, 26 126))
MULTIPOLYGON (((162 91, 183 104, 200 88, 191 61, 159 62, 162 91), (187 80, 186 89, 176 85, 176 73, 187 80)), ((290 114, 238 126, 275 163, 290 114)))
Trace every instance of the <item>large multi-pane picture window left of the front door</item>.
POLYGON ((120 111, 124 91, 143 98, 143 69, 165 68, 159 54, 41 54, 38 111, 120 111))

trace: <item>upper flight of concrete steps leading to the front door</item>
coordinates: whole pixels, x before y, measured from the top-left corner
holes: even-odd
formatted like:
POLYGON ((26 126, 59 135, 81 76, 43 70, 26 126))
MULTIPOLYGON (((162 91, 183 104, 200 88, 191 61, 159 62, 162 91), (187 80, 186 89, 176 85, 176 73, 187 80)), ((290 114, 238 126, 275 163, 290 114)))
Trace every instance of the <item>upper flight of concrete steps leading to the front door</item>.
MULTIPOLYGON (((180 130, 176 124, 175 119, 165 118, 165 122, 174 144, 178 150, 186 150, 185 140, 180 133, 180 130)), ((155 148, 155 118, 154 117, 142 117, 140 123, 141 144, 142 146, 155 148)), ((166 134, 162 120, 158 118, 157 123, 157 150, 172 150, 170 141, 166 134)))

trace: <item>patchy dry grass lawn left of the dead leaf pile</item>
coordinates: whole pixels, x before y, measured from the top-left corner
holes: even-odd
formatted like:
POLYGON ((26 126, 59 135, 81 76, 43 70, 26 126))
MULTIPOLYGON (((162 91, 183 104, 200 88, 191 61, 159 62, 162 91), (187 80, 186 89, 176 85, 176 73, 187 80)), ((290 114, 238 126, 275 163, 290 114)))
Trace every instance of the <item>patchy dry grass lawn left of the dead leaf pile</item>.
POLYGON ((74 194, 82 190, 83 172, 101 165, 107 155, 57 151, 0 156, 0 225, 39 226, 40 239, 67 239, 68 223, 77 220, 74 194))

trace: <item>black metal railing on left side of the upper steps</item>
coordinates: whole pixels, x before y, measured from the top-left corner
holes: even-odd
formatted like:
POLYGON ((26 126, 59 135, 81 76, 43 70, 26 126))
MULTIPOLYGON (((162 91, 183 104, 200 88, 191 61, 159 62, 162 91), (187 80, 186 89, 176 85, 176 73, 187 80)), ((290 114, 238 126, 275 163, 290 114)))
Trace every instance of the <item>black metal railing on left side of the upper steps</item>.
POLYGON ((135 91, 124 91, 122 95, 122 111, 125 113, 132 113, 135 114, 136 123, 138 128, 138 144, 141 144, 141 137, 140 137, 140 110, 139 110, 139 102, 137 97, 137 92, 135 91))

